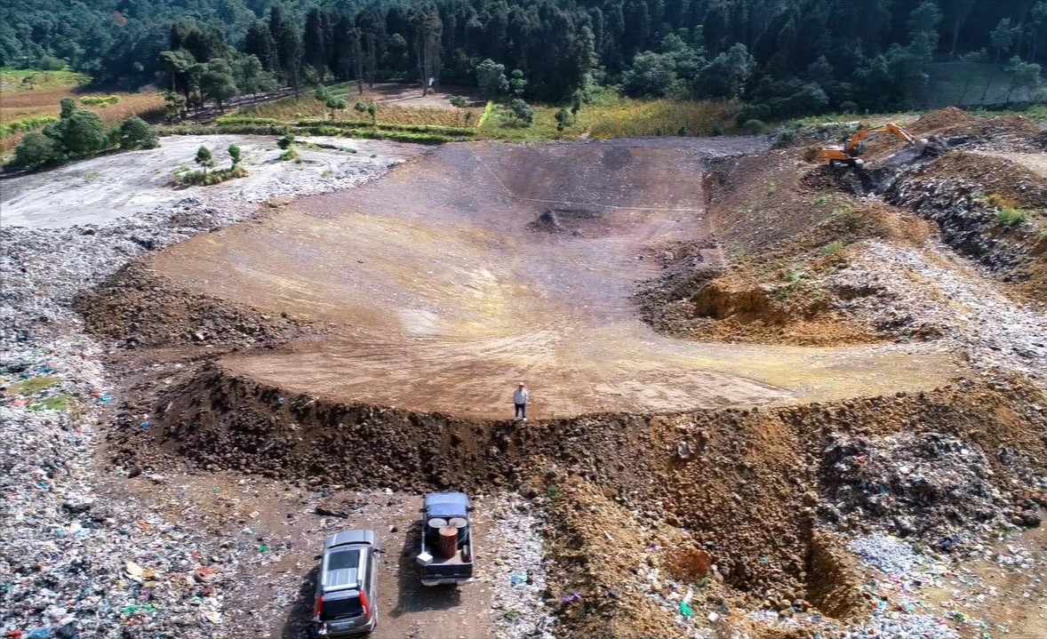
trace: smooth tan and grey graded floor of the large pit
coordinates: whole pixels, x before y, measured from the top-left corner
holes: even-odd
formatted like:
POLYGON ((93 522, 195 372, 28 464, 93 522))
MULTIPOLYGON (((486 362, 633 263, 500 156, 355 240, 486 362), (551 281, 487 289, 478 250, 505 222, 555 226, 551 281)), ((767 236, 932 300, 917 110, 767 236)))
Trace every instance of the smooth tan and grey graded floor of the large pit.
POLYGON ((928 346, 696 344, 632 302, 680 241, 708 237, 709 154, 752 140, 443 147, 379 181, 297 200, 147 265, 181 287, 322 330, 230 356, 289 392, 505 417, 517 380, 538 418, 819 399, 930 388, 928 346))

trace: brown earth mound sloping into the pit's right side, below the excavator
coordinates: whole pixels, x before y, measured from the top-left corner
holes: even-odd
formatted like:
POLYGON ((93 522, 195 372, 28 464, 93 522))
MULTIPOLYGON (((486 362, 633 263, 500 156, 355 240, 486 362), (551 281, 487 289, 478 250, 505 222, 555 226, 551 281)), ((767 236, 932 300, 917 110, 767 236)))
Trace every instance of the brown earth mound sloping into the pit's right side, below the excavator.
POLYGON ((651 326, 696 339, 805 346, 928 336, 849 312, 854 298, 884 291, 841 287, 833 276, 862 242, 919 245, 932 226, 900 208, 840 193, 842 178, 807 167, 802 156, 774 151, 718 167, 710 216, 730 264, 677 260, 641 286, 637 299, 651 326))

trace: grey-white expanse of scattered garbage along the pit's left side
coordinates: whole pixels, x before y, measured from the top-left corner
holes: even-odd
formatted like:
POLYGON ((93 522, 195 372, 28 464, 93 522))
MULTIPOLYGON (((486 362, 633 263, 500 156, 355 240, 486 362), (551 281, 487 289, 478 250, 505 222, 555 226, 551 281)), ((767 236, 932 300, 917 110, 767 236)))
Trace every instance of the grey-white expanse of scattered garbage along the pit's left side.
POLYGON ((105 224, 0 228, 0 384, 7 391, 0 395, 0 634, 235 636, 223 625, 232 555, 202 530, 99 491, 113 470, 95 465, 95 449, 116 400, 103 350, 69 305, 135 257, 253 216, 257 202, 349 186, 386 168, 375 162, 333 181, 314 176, 308 184, 184 198, 105 224))

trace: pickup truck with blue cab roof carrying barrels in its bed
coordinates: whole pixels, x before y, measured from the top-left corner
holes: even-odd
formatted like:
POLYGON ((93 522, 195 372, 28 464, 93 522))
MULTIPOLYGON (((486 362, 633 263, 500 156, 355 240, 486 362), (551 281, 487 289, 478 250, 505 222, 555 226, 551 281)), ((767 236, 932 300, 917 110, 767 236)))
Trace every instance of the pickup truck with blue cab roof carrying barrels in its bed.
POLYGON ((464 492, 431 492, 422 498, 422 533, 417 557, 423 586, 472 580, 472 506, 464 492))

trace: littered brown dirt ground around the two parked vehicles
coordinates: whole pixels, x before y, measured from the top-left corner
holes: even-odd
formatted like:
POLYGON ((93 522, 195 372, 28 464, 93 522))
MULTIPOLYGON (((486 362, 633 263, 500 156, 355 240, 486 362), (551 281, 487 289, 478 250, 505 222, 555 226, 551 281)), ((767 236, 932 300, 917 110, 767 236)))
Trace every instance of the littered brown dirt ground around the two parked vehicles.
MULTIPOLYGON (((111 489, 157 504, 171 522, 192 522, 228 539, 225 552, 233 571, 214 564, 230 608, 225 623, 236 636, 300 639, 312 614, 315 556, 324 538, 339 530, 366 528, 385 550, 378 571, 377 639, 493 637, 500 611, 491 607, 488 570, 460 588, 425 588, 418 579, 420 498, 393 491, 317 490, 238 473, 201 473, 170 468, 124 480, 111 489), (317 511, 325 512, 319 514, 317 511), (232 561, 232 557, 237 560, 232 561)), ((511 557, 512 549, 494 532, 496 498, 475 501, 477 554, 511 557)), ((510 567, 522 574, 527 566, 510 567)))

